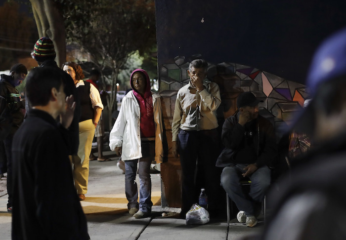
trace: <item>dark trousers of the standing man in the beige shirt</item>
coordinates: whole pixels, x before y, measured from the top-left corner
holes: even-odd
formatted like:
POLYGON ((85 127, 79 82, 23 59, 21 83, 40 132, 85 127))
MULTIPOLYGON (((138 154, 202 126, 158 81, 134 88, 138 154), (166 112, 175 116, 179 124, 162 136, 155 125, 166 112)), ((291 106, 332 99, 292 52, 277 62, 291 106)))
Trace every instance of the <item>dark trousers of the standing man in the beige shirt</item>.
POLYGON ((208 195, 209 212, 216 211, 220 193, 220 169, 215 166, 219 155, 217 129, 184 131, 179 129, 178 152, 182 170, 183 216, 193 203, 198 203, 201 188, 208 195))

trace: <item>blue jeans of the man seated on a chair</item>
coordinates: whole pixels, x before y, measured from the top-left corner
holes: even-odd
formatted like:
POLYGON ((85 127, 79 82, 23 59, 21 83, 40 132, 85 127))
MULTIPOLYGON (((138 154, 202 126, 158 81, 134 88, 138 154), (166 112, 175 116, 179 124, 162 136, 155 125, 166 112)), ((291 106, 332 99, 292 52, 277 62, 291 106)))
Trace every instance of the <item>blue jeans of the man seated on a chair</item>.
POLYGON ((250 192, 244 193, 240 179, 242 178, 241 173, 245 172, 243 170, 245 166, 247 164, 235 164, 223 168, 221 186, 240 211, 245 211, 246 216, 254 216, 255 205, 264 199, 265 192, 270 185, 270 169, 267 166, 262 166, 249 176, 251 180, 250 192))

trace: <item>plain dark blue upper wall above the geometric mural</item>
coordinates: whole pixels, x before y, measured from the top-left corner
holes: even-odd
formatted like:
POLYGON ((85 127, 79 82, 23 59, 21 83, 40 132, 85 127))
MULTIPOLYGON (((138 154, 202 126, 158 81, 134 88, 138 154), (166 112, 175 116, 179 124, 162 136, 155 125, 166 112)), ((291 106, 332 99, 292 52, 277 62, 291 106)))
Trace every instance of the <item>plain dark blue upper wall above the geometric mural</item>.
POLYGON ((159 66, 201 54, 304 83, 312 54, 346 26, 345 0, 155 0, 159 66), (202 19, 204 22, 202 22, 202 19))

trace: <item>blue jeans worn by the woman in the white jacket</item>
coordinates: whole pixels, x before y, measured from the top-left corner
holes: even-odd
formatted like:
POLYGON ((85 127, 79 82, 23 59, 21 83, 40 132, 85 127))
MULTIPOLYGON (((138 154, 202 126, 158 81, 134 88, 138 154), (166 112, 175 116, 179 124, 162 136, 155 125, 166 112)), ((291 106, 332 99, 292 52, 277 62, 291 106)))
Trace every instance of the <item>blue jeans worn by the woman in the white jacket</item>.
MULTIPOLYGON (((154 143, 155 146, 155 143, 154 143)), ((149 146, 143 146, 142 149, 149 146)), ((148 149, 146 149, 148 150, 148 149)), ((143 149, 143 151, 146 151, 143 149)), ((143 158, 136 160, 125 160, 125 193, 128 199, 128 209, 138 207, 140 211, 145 213, 151 212, 153 205, 151 201, 151 178, 150 178, 150 164, 153 157, 147 157, 142 151, 143 158), (137 175, 138 163, 138 176, 139 176, 139 203, 138 203, 138 189, 135 181, 137 175)))

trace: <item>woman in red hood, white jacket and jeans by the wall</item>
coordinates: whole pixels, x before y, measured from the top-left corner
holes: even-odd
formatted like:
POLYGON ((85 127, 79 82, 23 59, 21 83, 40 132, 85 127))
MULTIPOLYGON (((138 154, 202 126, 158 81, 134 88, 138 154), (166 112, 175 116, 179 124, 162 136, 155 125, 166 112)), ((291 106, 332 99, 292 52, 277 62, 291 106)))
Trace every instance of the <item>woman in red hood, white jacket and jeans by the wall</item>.
POLYGON ((150 215, 150 164, 163 161, 163 120, 160 95, 150 91, 150 80, 143 69, 136 69, 130 77, 132 91, 122 100, 117 120, 109 136, 109 147, 125 161, 125 192, 129 213, 135 218, 150 215), (140 180, 139 203, 137 173, 140 180))

